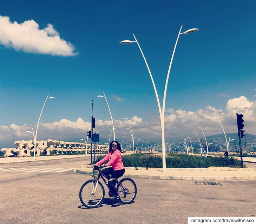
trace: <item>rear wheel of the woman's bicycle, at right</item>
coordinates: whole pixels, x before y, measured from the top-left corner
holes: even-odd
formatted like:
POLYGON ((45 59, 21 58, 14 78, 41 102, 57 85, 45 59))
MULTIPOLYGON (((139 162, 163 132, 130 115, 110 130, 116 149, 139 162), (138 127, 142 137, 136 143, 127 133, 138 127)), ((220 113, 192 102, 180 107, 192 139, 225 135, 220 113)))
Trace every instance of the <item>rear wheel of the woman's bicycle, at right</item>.
POLYGON ((125 177, 120 180, 117 185, 117 193, 122 204, 129 204, 133 202, 137 194, 135 182, 129 177, 125 177))

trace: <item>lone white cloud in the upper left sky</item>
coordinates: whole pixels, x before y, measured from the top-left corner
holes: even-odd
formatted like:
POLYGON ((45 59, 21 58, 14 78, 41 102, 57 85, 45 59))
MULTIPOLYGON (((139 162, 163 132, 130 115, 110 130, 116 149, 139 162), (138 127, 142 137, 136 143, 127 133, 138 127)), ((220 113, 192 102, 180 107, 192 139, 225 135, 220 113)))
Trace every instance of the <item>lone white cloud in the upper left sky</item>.
POLYGON ((60 38, 57 30, 50 23, 40 29, 34 20, 22 23, 11 22, 8 16, 0 16, 0 44, 6 48, 23 50, 29 53, 59 56, 74 56, 74 45, 60 38))

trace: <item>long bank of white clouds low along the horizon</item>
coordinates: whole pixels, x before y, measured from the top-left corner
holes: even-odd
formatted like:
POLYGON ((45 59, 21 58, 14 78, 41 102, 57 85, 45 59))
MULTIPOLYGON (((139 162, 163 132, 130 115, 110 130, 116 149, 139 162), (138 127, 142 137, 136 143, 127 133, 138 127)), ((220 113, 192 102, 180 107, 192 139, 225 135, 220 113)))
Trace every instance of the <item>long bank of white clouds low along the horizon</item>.
MULTIPOLYGON (((165 139, 166 141, 174 141, 183 139, 185 136, 190 135, 191 138, 195 138, 194 132, 197 132, 199 137, 203 137, 202 132, 197 129, 198 126, 202 126, 205 135, 213 135, 222 133, 221 125, 218 119, 212 118, 218 114, 219 119, 222 122, 226 133, 236 133, 236 113, 242 113, 244 115, 244 130, 246 133, 256 134, 256 112, 255 101, 250 102, 246 97, 241 96, 239 98, 230 99, 227 102, 227 108, 225 111, 217 110, 210 105, 204 109, 198 109, 196 111, 185 111, 182 109, 174 110, 169 108, 166 110, 165 116, 165 139)), ((133 135, 136 139, 161 141, 160 122, 159 117, 153 117, 149 121, 143 120, 137 116, 130 118, 130 125, 132 127, 133 135)), ((62 140, 62 141, 74 141, 74 139, 80 139, 87 135, 87 131, 90 128, 91 122, 84 121, 78 118, 77 121, 70 121, 67 119, 61 119, 53 123, 40 124, 38 131, 38 140, 62 140)), ((127 120, 115 120, 114 126, 116 128, 116 138, 122 140, 124 132, 125 138, 130 138, 129 130, 125 129, 129 127, 127 120)), ((1 147, 3 145, 11 146, 15 140, 29 140, 32 139, 31 134, 26 133, 27 130, 31 130, 35 125, 22 125, 18 126, 12 124, 10 126, 1 126, 1 147)), ((111 120, 97 120, 96 128, 94 131, 100 134, 100 139, 109 139, 109 135, 112 129, 111 120)), ((113 136, 113 134, 112 134, 113 136)))

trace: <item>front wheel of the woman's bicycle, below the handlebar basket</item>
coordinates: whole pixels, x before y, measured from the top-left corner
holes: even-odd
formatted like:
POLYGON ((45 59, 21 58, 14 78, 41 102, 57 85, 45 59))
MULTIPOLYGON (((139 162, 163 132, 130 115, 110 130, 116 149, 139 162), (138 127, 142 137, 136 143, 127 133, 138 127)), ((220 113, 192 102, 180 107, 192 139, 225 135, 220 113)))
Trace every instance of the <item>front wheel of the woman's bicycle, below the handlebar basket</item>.
POLYGON ((79 191, 80 201, 86 208, 96 208, 104 199, 104 187, 99 181, 98 184, 96 182, 96 180, 86 181, 79 191))

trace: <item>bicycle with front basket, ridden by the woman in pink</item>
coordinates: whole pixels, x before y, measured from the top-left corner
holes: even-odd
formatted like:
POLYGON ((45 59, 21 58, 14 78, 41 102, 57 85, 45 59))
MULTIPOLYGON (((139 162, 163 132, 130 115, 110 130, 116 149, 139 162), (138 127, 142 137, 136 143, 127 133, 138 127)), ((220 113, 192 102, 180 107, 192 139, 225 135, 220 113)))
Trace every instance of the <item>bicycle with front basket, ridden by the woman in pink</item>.
MULTIPOLYGON (((114 197, 109 184, 107 184, 107 180, 109 180, 102 172, 102 166, 94 166, 92 170, 92 177, 94 180, 86 181, 80 188, 79 198, 81 203, 86 208, 96 208, 101 202, 104 200, 105 189, 103 184, 99 182, 101 178, 109 189, 109 196, 114 197)), ((135 182, 129 178, 125 177, 122 180, 116 182, 117 184, 117 193, 120 197, 120 202, 122 204, 130 204, 134 201, 137 194, 137 187, 135 182)))

